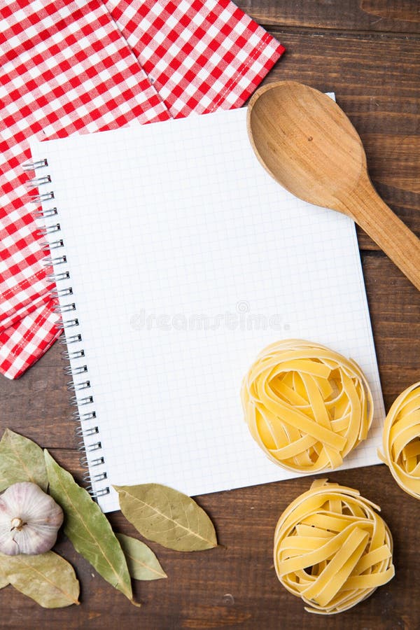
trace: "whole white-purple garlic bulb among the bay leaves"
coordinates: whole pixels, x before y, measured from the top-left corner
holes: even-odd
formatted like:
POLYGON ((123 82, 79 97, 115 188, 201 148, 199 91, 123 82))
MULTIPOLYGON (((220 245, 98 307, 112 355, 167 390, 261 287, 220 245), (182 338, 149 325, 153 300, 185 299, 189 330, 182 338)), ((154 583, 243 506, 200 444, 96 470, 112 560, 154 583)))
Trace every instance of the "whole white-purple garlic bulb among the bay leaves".
POLYGON ((0 496, 0 552, 43 554, 57 540, 63 511, 36 484, 20 482, 0 496))

